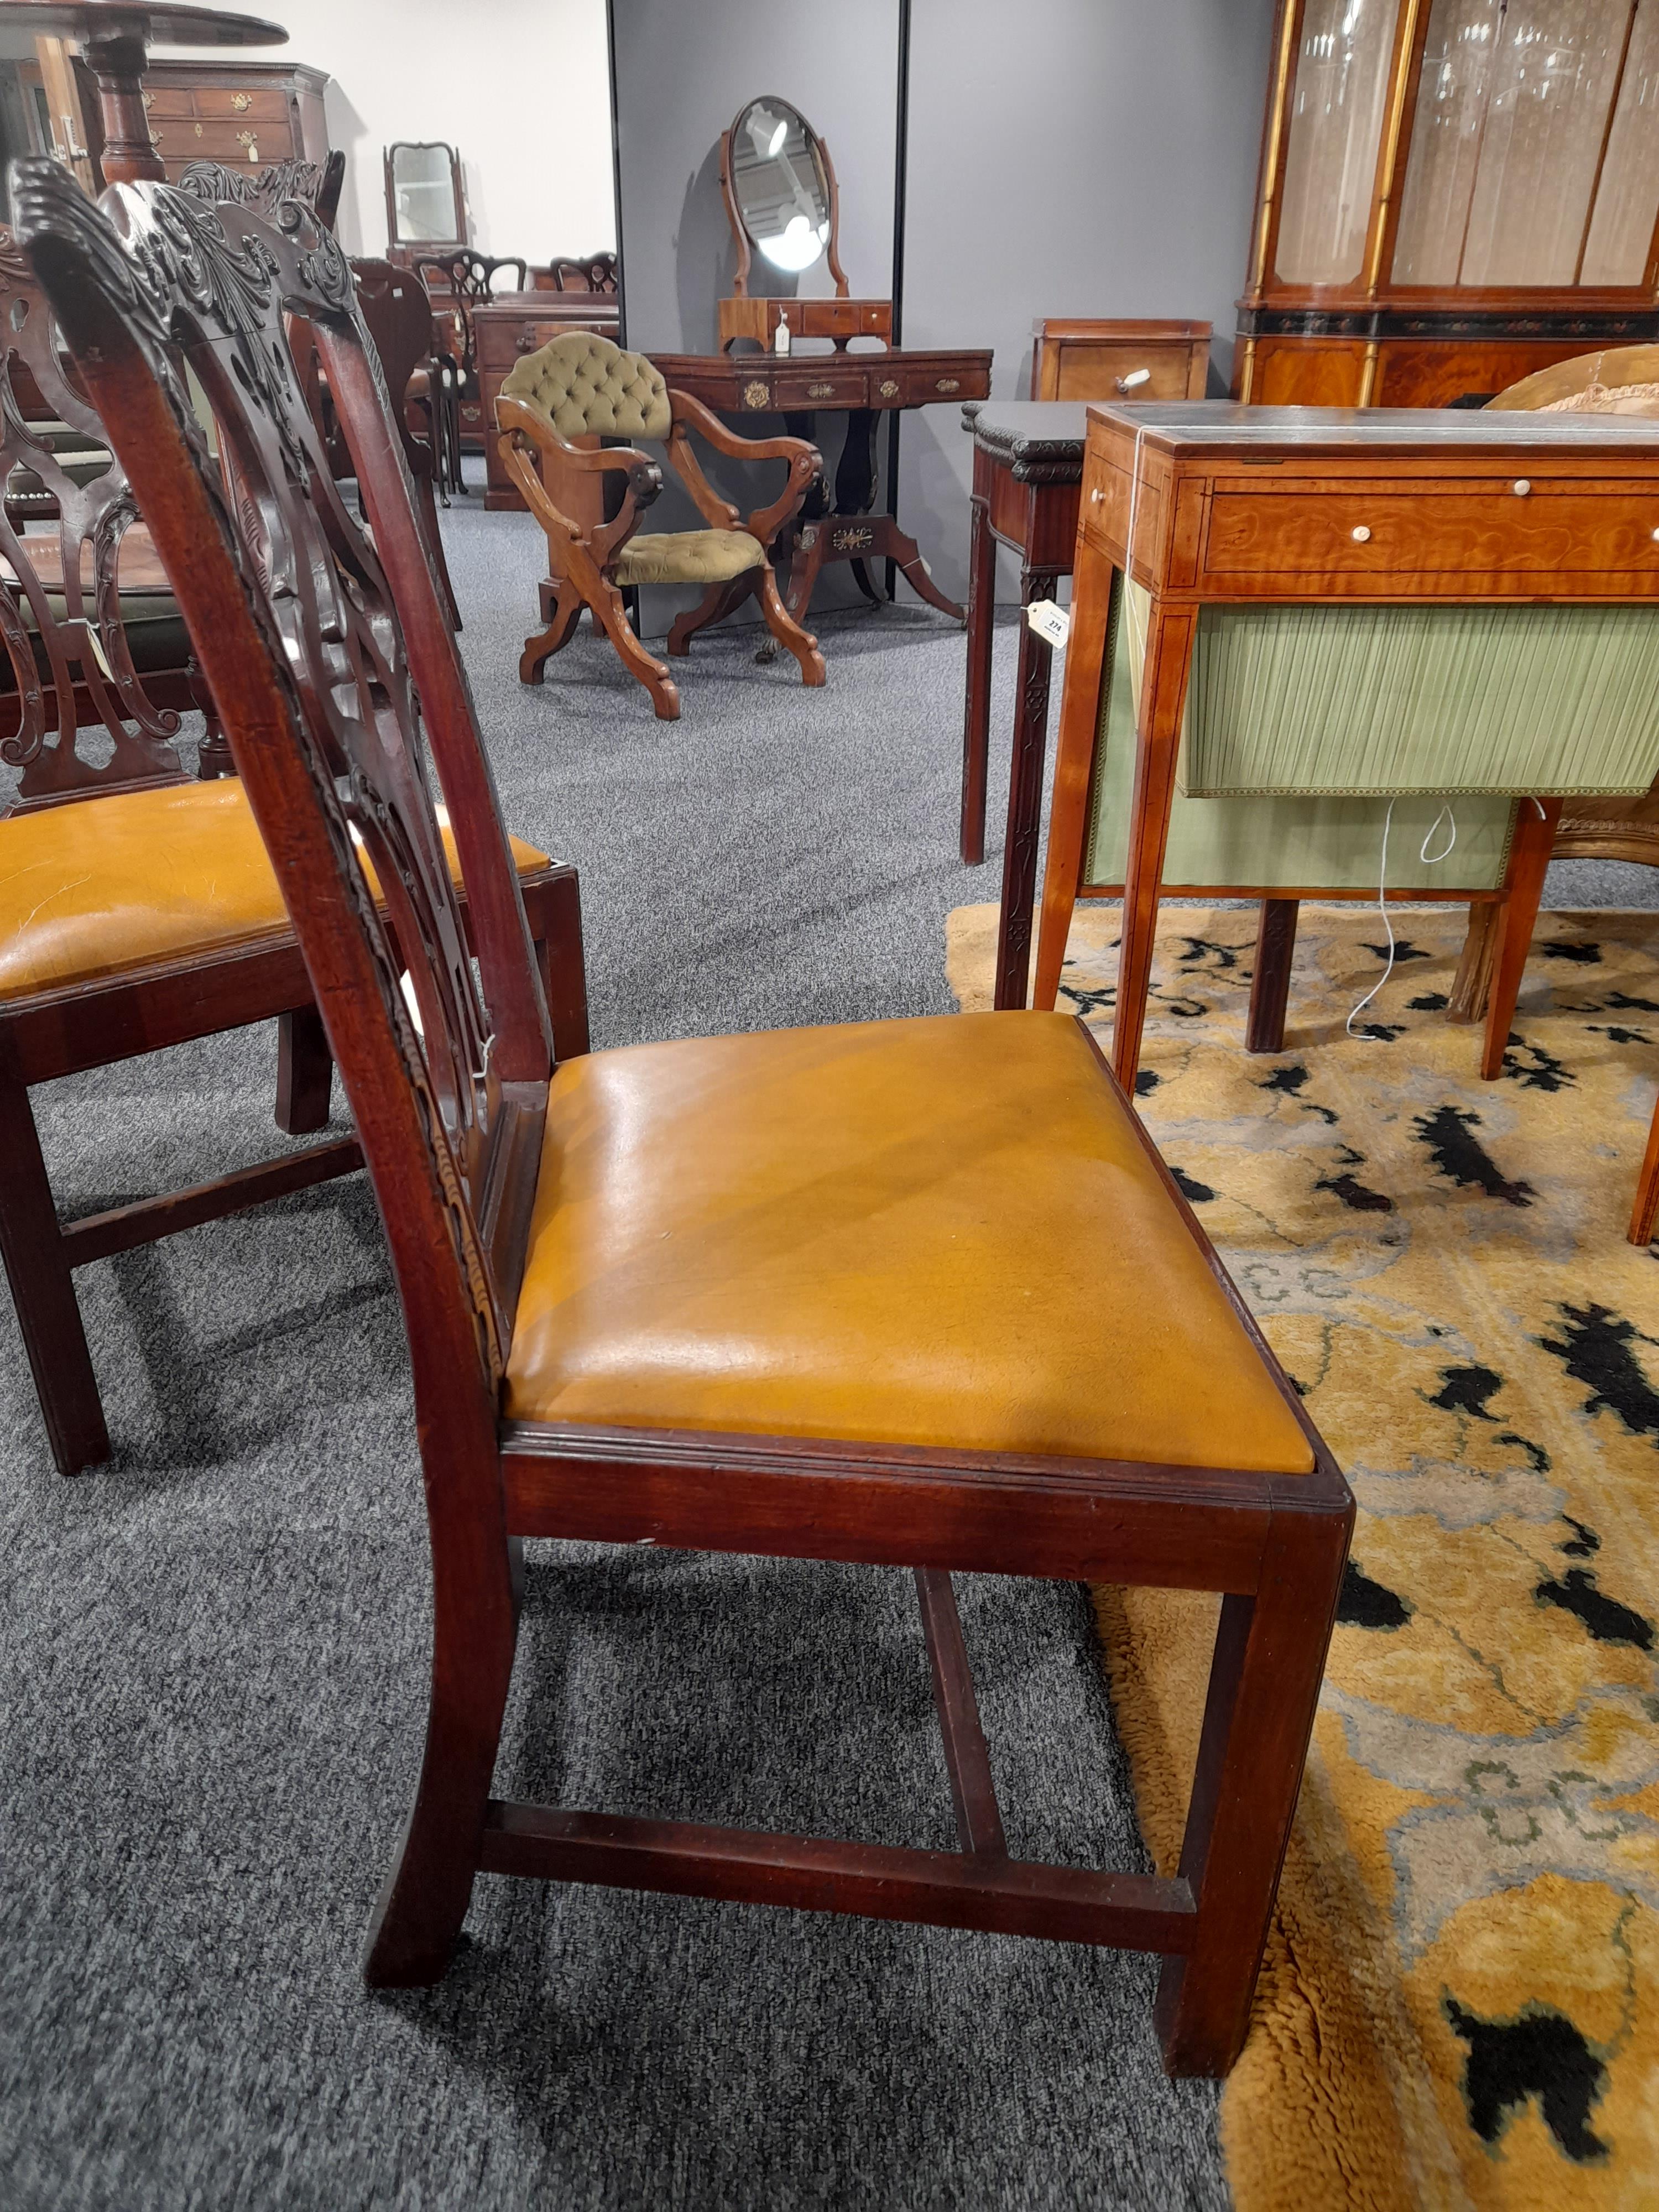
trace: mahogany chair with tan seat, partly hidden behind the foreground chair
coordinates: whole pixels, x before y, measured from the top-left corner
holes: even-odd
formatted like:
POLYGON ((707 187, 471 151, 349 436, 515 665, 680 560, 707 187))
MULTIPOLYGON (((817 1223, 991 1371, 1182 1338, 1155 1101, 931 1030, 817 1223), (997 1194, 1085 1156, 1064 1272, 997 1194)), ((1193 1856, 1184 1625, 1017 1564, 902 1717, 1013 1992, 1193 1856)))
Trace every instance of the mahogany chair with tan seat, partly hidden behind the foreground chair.
MULTIPOLYGON (((246 179, 237 179, 246 184, 246 179)), ((212 199, 212 177, 190 188, 212 199)), ((252 201, 250 192, 241 199, 252 201)), ((288 201, 296 206, 296 201, 288 201)), ((217 1221, 332 1175, 338 1137, 223 1179, 62 1221, 29 1091, 135 1053, 276 1022, 276 1126, 327 1126, 332 1060, 276 876, 234 776, 188 774, 179 710, 210 706, 166 577, 122 591, 137 544, 119 460, 80 480, 20 387, 84 442, 104 425, 66 374, 53 319, 22 254, 0 248, 0 456, 29 460, 58 515, 20 535, 0 518, 0 1256, 62 1473, 111 1455, 75 1270, 217 1221)), ((228 757, 226 757, 228 765, 228 757)), ((515 845, 533 933, 566 1048, 586 1037, 577 883, 515 845)))

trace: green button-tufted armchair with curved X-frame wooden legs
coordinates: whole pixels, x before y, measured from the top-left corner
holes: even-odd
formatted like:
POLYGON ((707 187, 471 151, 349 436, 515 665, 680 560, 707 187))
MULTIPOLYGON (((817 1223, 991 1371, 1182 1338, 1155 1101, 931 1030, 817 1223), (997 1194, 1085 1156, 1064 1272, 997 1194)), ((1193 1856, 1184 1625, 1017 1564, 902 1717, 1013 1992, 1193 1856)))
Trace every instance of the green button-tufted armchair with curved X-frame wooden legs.
POLYGON ((670 392, 644 354, 611 338, 566 332, 526 354, 495 400, 500 453, 546 531, 549 575, 542 584, 542 628, 524 641, 520 684, 540 684, 549 659, 575 630, 582 608, 646 686, 661 721, 679 714, 679 686, 633 633, 622 593, 635 584, 701 584, 703 597, 668 630, 668 650, 684 655, 710 622, 721 622, 750 595, 765 626, 801 664, 803 684, 823 684, 818 639, 792 619, 772 575, 772 546, 801 511, 823 462, 803 438, 743 438, 688 392, 670 392), (690 447, 695 429, 717 451, 741 460, 787 460, 790 478, 770 507, 748 520, 719 498, 690 447), (575 445, 586 438, 659 438, 668 465, 697 502, 708 529, 639 533, 646 507, 661 491, 661 467, 633 445, 575 445), (624 476, 622 507, 602 513, 604 476, 624 476))

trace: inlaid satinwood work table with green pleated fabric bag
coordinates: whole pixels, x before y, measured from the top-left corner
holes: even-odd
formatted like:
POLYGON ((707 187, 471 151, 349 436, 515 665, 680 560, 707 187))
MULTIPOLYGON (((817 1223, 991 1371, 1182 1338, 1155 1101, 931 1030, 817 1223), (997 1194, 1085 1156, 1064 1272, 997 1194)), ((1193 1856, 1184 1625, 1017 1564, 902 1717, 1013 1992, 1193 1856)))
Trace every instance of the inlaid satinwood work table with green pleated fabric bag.
MULTIPOLYGON (((1091 405, 1037 1006, 1055 1002, 1091 838, 1119 593, 1139 677, 1124 1088, 1177 787, 1537 801, 1515 810, 1504 878, 1482 1057, 1498 1075, 1562 794, 1641 792, 1659 768, 1659 422, 1091 405)), ((1279 896, 1294 922, 1298 894, 1279 896)))

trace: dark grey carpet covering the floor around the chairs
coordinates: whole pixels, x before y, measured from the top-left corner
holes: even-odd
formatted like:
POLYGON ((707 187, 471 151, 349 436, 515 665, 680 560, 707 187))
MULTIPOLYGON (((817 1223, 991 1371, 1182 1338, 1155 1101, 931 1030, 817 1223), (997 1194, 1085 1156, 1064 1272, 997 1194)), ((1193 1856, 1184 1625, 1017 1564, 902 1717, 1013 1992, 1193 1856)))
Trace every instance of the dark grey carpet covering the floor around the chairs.
MULTIPOLYGON (((962 637, 699 646, 657 723, 513 681, 533 533, 449 520, 513 825, 584 869, 599 1042, 945 1009, 962 637)), ((1006 728, 1011 653, 998 721, 1006 728)), ((268 1035, 49 1086, 66 1210, 272 1148, 268 1035)), ((356 1953, 416 1772, 427 1562, 361 1183, 84 1270, 117 1438, 60 1482, 0 1316, 0 2203, 1210 2208, 1152 1964, 482 1878, 442 1989, 356 1953)), ((1079 1593, 962 1584, 1018 1849, 1137 1865, 1079 1593)), ((905 1575, 533 1546, 507 1790, 945 1843, 905 1575)))

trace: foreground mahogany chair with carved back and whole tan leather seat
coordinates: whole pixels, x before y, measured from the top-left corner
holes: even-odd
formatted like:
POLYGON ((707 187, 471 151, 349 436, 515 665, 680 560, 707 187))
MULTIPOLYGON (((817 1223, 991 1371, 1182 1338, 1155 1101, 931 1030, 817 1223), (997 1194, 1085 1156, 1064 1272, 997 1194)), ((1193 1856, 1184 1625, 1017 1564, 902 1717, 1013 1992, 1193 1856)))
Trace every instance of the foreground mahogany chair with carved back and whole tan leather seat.
POLYGON ((166 186, 108 195, 122 237, 49 161, 13 204, 201 641, 409 1332, 431 1705, 369 1982, 436 1982, 489 1869, 1155 1951, 1168 2068, 1225 2073, 1354 1506, 1088 1033, 942 1015, 560 1064, 332 239, 288 208, 219 228, 166 186), (321 467, 285 307, 372 535, 321 467), (914 1568, 960 1849, 493 1796, 526 1535, 914 1568), (1177 1871, 1009 1849, 953 1571, 1225 1593, 1177 1871))

